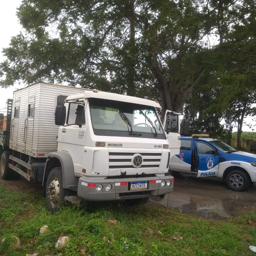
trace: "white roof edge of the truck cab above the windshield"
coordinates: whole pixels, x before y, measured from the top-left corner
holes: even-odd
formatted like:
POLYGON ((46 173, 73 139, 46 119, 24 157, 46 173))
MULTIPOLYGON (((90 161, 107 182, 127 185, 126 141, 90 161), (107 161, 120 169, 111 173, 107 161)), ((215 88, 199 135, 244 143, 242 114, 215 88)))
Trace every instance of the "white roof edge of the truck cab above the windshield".
POLYGON ((123 94, 117 94, 112 92, 102 92, 97 90, 86 90, 84 93, 74 94, 68 96, 67 100, 76 100, 76 99, 89 99, 89 98, 97 98, 97 99, 105 99, 105 100, 116 100, 116 101, 122 101, 122 102, 129 102, 133 104, 140 104, 140 105, 146 105, 151 106, 155 108, 160 108, 160 104, 153 100, 147 100, 132 96, 127 96, 123 94))

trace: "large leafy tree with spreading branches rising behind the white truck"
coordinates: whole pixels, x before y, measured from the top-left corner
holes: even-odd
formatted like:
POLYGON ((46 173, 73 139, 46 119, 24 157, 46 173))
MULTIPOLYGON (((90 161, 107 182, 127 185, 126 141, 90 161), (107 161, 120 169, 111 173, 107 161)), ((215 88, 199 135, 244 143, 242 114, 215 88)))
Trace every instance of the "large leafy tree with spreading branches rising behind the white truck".
POLYGON ((159 99, 163 120, 205 71, 255 45, 255 9, 248 0, 24 0, 26 33, 4 49, 0 85, 46 80, 159 99), (230 35, 246 26, 234 49, 230 35))

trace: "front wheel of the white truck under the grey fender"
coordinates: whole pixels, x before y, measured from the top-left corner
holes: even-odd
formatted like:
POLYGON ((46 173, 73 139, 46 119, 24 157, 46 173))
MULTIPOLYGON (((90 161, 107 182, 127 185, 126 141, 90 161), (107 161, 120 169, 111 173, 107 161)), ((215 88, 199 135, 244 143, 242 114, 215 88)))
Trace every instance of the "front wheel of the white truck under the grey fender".
POLYGON ((63 188, 61 167, 53 168, 46 181, 46 203, 51 212, 57 212, 64 203, 66 189, 63 188))

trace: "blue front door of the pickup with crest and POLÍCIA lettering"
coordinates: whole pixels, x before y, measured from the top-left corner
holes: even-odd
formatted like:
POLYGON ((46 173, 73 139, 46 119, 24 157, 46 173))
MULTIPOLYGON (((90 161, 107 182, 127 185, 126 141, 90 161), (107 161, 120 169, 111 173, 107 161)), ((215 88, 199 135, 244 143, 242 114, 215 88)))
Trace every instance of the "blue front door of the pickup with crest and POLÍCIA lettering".
POLYGON ((215 148, 203 141, 195 141, 195 146, 194 150, 198 154, 197 177, 216 176, 219 171, 220 156, 215 154, 215 148))

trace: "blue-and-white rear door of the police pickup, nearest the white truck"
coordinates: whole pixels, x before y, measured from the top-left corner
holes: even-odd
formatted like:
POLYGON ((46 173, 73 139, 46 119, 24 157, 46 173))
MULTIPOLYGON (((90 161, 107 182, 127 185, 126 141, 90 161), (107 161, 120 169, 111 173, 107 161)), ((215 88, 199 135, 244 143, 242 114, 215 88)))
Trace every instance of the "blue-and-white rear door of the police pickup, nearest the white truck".
POLYGON ((171 170, 184 172, 191 171, 192 159, 192 139, 180 139, 180 154, 174 155, 171 158, 171 170))

